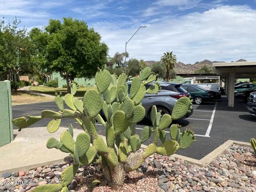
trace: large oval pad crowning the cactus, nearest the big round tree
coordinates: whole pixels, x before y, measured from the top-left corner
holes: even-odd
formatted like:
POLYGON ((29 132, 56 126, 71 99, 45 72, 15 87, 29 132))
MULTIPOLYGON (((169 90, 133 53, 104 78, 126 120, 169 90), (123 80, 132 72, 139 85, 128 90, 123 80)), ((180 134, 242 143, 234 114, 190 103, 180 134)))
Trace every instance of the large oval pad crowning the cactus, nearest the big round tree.
POLYGON ((95 75, 95 83, 100 93, 105 92, 111 82, 111 74, 108 70, 99 70, 95 75))

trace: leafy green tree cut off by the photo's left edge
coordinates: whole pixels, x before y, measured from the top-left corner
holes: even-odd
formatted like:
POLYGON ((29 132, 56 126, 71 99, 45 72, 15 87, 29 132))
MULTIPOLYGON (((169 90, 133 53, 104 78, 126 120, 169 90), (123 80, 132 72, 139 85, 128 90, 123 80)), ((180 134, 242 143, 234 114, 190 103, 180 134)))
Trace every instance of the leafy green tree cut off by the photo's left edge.
POLYGON ((14 74, 31 73, 33 46, 26 29, 20 28, 21 21, 14 18, 12 23, 0 21, 0 76, 12 80, 14 74))

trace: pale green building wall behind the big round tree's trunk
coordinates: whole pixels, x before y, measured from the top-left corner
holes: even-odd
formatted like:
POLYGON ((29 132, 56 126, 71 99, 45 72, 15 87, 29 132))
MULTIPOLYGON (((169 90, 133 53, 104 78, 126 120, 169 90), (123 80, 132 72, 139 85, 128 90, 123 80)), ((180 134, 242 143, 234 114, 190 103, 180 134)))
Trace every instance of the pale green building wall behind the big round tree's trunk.
MULTIPOLYGON (((58 81, 58 86, 62 87, 63 85, 67 85, 66 80, 61 78, 59 73, 53 73, 52 74, 52 80, 57 80, 58 81)), ((86 79, 86 78, 75 78, 75 82, 77 82, 79 85, 84 85, 84 86, 95 86, 95 79, 86 79)))

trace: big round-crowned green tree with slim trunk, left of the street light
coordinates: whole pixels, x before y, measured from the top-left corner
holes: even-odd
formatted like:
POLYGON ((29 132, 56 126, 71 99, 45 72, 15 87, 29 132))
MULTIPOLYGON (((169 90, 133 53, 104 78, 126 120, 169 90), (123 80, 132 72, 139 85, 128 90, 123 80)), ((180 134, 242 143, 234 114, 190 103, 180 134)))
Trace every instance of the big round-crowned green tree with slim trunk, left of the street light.
POLYGON ((89 28, 84 21, 73 18, 50 19, 44 31, 33 29, 31 38, 36 42, 38 51, 43 50, 37 58, 41 68, 46 72, 59 72, 69 83, 75 77, 93 77, 97 67, 105 66, 108 47, 101 43, 101 36, 89 28), (45 60, 44 60, 44 59, 45 60))

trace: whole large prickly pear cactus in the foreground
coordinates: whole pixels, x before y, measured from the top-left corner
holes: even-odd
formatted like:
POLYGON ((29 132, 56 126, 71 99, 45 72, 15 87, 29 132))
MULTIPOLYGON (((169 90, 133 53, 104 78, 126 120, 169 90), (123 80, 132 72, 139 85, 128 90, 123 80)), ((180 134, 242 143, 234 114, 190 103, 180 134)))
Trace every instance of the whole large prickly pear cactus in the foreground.
MULTIPOLYGON (((172 114, 161 115, 156 106, 151 109, 153 127, 145 126, 141 137, 135 134, 136 124, 146 115, 141 105, 146 93, 157 94, 161 87, 156 81, 157 75, 151 73, 150 67, 141 71, 140 76, 134 77, 131 82, 130 93, 126 84, 125 74, 110 75, 105 69, 98 69, 95 75, 97 90, 89 90, 84 94, 83 101, 74 97, 77 86, 71 85, 71 94, 56 95, 55 102, 59 111, 43 110, 41 116, 29 116, 13 119, 13 124, 24 129, 42 118, 51 118, 47 125, 49 133, 57 131, 62 118, 73 118, 82 127, 84 133, 74 138, 73 126, 63 131, 60 140, 50 138, 46 147, 69 153, 74 158, 62 173, 62 181, 58 185, 39 186, 34 191, 67 191, 67 186, 74 178, 79 165, 98 163, 103 174, 115 190, 122 188, 125 172, 138 169, 150 155, 172 155, 179 148, 187 148, 195 141, 194 133, 186 130, 180 134, 180 126, 171 125, 173 119, 185 116, 190 108, 191 101, 181 98, 173 108, 172 114), (151 83, 154 82, 154 83, 151 83), (151 83, 148 89, 146 86, 151 83), (66 103, 68 109, 64 108, 66 103), (105 116, 104 120, 102 114, 105 116), (95 122, 101 123, 106 130, 106 142, 97 133, 95 122), (170 127, 171 125, 171 127, 170 127), (165 130, 170 127, 171 139, 165 130), (143 142, 152 142, 141 152, 138 152, 143 142), (158 145, 159 142, 162 142, 158 145)), ((53 149, 52 149, 53 150, 53 149)))

